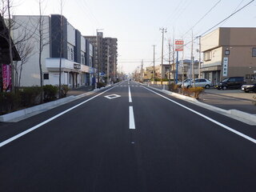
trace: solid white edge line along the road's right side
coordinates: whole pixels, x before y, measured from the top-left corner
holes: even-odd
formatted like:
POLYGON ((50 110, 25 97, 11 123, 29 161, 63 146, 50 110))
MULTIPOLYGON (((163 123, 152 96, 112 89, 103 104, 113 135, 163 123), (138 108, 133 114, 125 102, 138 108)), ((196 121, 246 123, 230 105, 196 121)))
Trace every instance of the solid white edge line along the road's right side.
MULTIPOLYGON (((146 90, 150 90, 148 88, 146 88, 145 86, 143 86, 143 88, 145 88, 146 90)), ((154 90, 150 90, 151 92, 153 92, 154 94, 158 94, 157 92, 155 92, 154 90)), ((166 98, 165 96, 163 96, 162 94, 158 94, 160 97, 162 98, 166 98)), ((209 120, 210 122, 214 122, 215 124, 217 124, 218 126, 222 126, 224 129, 226 130, 230 130, 232 133, 234 134, 238 134, 239 136, 241 136, 242 138, 246 138, 247 140, 249 140, 250 142, 254 142, 256 144, 256 139, 254 138, 250 138, 249 136, 247 136, 246 134, 242 134, 241 132, 234 130, 232 128, 230 128, 229 126, 226 126, 224 124, 222 124, 221 122, 217 122, 212 118, 207 117, 204 114, 199 113, 196 110, 192 110, 187 106, 183 106, 182 104, 175 102, 174 100, 170 99, 170 98, 166 98, 167 100, 169 100, 170 102, 174 102, 175 104, 177 104, 178 106, 182 106, 183 108, 185 108, 186 110, 190 110, 191 112, 193 112, 194 114, 198 114, 199 116, 201 116, 202 118, 206 118, 207 120, 209 120)))

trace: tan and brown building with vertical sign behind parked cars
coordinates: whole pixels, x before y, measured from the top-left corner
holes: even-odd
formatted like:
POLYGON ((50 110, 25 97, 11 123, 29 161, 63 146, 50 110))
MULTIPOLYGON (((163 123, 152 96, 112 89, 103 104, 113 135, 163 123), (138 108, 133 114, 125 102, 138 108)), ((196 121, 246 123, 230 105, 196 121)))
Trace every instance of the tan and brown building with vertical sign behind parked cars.
POLYGON ((202 78, 215 85, 223 78, 256 78, 256 28, 221 27, 201 39, 202 78))

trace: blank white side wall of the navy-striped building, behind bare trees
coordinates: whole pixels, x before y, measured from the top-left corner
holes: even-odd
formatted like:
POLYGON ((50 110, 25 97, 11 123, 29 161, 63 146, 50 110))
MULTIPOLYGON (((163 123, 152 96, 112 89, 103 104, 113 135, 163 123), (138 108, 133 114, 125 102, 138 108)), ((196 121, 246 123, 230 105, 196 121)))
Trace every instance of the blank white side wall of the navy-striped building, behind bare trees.
MULTIPOLYGON (((32 38, 26 41, 26 45, 30 44, 33 47, 33 55, 28 59, 28 61, 22 66, 22 78, 21 86, 39 86, 40 85, 40 70, 39 70, 39 42, 38 42, 38 19, 39 16, 14 16, 14 21, 16 22, 15 28, 17 30, 13 31, 14 42, 17 42, 22 38, 22 34, 32 35, 32 38)), ((42 17, 44 21, 43 34, 45 34, 46 41, 50 42, 49 33, 49 16, 42 17)), ((50 44, 46 45, 42 51, 42 71, 47 72, 45 66, 45 58, 50 57, 50 44)))

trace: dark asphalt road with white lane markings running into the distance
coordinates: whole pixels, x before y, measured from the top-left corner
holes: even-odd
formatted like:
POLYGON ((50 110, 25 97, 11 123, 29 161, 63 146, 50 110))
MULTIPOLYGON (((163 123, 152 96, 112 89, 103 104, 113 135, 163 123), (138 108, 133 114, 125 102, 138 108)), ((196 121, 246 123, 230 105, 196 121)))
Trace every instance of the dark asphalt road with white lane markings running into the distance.
POLYGON ((255 191, 255 128, 126 81, 0 123, 0 191, 255 191))

